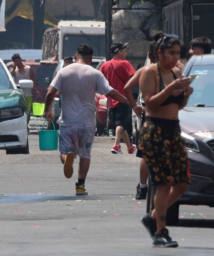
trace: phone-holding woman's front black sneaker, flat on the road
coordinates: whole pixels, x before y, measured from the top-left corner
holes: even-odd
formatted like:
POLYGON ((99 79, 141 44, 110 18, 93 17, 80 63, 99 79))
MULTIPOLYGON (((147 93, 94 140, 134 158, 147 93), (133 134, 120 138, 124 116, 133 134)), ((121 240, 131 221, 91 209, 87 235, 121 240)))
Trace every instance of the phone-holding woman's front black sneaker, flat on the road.
POLYGON ((160 232, 154 234, 154 241, 152 244, 153 247, 178 247, 176 241, 171 240, 171 237, 168 235, 168 229, 163 228, 160 232))

